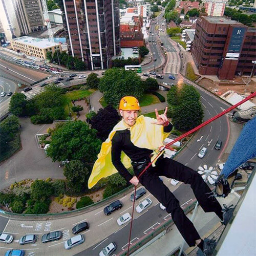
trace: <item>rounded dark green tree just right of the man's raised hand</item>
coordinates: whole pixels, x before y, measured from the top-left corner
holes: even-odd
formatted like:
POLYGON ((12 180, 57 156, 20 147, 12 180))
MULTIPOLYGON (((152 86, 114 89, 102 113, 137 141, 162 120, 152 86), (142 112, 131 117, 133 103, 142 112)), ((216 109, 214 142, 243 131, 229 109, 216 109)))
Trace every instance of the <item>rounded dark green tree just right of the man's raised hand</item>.
POLYGON ((203 109, 199 101, 183 102, 176 106, 172 113, 172 121, 176 129, 189 131, 203 121, 203 109))

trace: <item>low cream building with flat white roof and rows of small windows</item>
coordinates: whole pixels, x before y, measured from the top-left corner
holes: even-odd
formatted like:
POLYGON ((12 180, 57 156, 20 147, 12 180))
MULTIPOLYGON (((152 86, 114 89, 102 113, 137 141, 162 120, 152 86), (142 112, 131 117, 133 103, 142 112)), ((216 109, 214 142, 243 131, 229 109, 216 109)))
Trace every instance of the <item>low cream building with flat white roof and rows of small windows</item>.
POLYGON ((60 44, 49 42, 47 39, 39 39, 29 36, 12 39, 11 47, 14 51, 19 50, 26 55, 40 59, 47 59, 47 52, 51 52, 52 54, 57 50, 61 52, 60 44))

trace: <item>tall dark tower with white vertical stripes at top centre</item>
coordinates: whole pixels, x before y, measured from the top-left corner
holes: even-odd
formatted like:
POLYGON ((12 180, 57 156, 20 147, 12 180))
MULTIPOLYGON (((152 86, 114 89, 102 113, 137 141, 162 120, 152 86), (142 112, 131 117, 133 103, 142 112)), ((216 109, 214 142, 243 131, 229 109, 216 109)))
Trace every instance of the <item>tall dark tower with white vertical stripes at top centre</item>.
POLYGON ((88 69, 110 67, 120 53, 119 0, 63 0, 69 52, 88 69))

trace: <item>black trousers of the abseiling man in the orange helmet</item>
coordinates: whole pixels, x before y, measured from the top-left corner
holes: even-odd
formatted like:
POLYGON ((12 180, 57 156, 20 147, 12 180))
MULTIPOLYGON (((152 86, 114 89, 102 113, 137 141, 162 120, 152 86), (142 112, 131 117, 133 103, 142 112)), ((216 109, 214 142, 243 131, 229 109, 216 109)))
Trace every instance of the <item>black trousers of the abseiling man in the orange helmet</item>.
MULTIPOLYGON (((138 177, 145 165, 136 168, 138 164, 134 164, 135 175, 138 177)), ((195 170, 169 158, 160 157, 155 167, 150 167, 140 177, 140 183, 150 191, 150 193, 158 199, 166 207, 166 211, 172 215, 172 219, 179 229, 182 237, 189 246, 195 246, 196 240, 200 236, 193 223, 186 217, 184 211, 180 207, 180 203, 173 193, 159 179, 159 176, 173 178, 190 184, 194 194, 205 212, 214 211, 218 216, 221 215, 221 205, 215 197, 211 196, 211 190, 204 182, 201 175, 195 170)))

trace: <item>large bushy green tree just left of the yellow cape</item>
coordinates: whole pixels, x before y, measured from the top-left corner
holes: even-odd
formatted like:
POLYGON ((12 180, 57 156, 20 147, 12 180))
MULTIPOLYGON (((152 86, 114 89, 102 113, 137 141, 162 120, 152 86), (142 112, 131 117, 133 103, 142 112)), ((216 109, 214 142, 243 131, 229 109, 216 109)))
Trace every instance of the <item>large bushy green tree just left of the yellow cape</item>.
POLYGON ((58 127, 51 136, 47 154, 55 161, 85 160, 93 163, 100 150, 97 131, 86 122, 69 121, 58 127))

